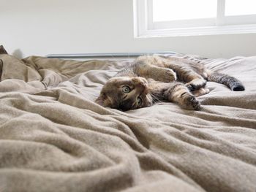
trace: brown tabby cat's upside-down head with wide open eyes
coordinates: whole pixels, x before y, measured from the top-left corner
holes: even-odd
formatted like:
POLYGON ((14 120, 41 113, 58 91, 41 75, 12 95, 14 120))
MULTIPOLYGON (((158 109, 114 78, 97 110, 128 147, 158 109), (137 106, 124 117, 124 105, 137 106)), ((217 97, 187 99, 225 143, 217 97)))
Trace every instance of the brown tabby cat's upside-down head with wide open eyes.
POLYGON ((135 110, 152 105, 148 82, 143 77, 113 77, 103 86, 98 104, 118 110, 135 110))

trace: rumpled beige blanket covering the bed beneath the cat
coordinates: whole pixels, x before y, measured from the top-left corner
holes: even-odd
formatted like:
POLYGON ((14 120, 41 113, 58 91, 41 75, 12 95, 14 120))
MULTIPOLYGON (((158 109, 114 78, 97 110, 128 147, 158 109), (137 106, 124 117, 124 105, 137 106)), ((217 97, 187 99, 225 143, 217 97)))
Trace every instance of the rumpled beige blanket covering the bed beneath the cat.
POLYGON ((0 191, 256 191, 256 57, 202 60, 246 91, 200 111, 128 112, 94 103, 128 60, 0 59, 0 191))

